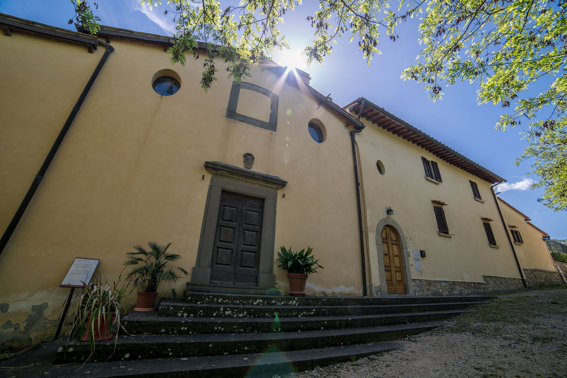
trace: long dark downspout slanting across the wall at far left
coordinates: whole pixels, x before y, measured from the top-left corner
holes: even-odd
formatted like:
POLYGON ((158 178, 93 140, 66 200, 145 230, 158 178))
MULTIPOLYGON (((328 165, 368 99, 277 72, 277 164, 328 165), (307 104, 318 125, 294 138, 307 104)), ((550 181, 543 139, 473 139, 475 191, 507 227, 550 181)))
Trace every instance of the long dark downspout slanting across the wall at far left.
POLYGON ((24 211, 26 211, 29 202, 33 197, 33 194, 35 194, 37 187, 41 183, 41 180, 43 180, 45 176, 45 172, 47 171, 47 168, 49 168, 49 164, 51 164, 51 161, 53 160, 55 154, 57 153, 57 150, 61 145, 61 142, 63 142, 63 139, 65 138, 65 134, 67 134, 67 131, 71 127, 71 124, 75 119, 75 116, 79 112, 79 109, 81 109, 81 105, 83 104, 85 97, 87 97, 88 91, 90 91, 92 84, 95 82, 95 79, 98 76, 100 69, 103 67, 109 54, 114 51, 114 48, 108 43, 105 43, 103 41, 98 41, 98 42, 99 45, 105 46, 106 51, 104 52, 103 56, 100 58, 99 64, 96 66, 95 70, 93 71, 91 78, 88 79, 87 85, 84 87, 83 92, 81 93, 79 99, 77 100, 77 103, 71 110, 69 117, 67 117, 67 121, 63 125, 63 128, 61 129, 59 135, 57 135, 57 139, 55 139, 55 142, 53 143, 51 150, 49 150, 49 153, 47 154, 43 164, 41 165, 41 168, 37 172, 35 179, 33 179, 32 184, 29 186, 26 196, 22 200, 22 203, 20 203, 18 210, 16 210, 14 217, 12 217, 10 224, 8 224, 6 231, 2 235, 2 238, 0 239, 0 254, 3 252, 4 248, 6 247, 6 244, 8 244, 8 241, 10 240, 12 233, 14 233, 16 226, 18 226, 20 219, 22 219, 22 215, 24 214, 24 211))

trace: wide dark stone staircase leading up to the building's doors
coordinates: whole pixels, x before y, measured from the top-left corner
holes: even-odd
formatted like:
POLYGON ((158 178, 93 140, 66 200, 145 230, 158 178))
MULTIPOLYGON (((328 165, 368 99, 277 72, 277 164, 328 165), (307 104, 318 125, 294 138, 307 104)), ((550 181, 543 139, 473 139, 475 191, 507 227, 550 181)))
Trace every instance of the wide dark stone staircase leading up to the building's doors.
POLYGON ((89 377, 272 377, 403 347, 487 296, 290 297, 186 292, 133 312, 122 333, 61 346, 54 364, 86 362, 89 377), (96 363, 95 363, 96 362, 96 363))

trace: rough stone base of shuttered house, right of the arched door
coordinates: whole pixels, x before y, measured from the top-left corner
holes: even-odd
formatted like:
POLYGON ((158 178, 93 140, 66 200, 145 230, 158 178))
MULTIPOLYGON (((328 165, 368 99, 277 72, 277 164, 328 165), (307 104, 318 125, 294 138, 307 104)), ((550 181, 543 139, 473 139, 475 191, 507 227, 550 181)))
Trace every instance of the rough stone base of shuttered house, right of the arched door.
POLYGON ((434 281, 412 279, 416 296, 483 295, 494 291, 518 290, 524 287, 519 278, 483 275, 484 282, 434 281))

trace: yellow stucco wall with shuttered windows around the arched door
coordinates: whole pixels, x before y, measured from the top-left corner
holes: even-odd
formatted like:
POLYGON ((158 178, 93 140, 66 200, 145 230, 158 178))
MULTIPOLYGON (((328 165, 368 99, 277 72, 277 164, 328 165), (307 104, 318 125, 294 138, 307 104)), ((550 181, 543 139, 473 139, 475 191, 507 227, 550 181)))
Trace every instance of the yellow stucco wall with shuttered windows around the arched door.
MULTIPOLYGON (((483 275, 520 278, 510 245, 503 231, 490 184, 437 158, 411 142, 364 120, 366 128, 356 134, 366 202, 371 283, 379 287, 376 225, 386 217, 386 206, 394 210, 391 219, 400 225, 410 250, 426 251, 422 271, 406 266, 414 279, 483 282, 483 275), (439 164, 443 182, 424 178, 421 156, 439 164), (384 165, 384 175, 376 168, 384 165), (485 203, 473 197, 469 180, 479 186, 485 203), (439 236, 431 200, 443 206, 452 237, 439 236), (491 218, 494 237, 500 248, 488 244, 481 218, 491 218)), ((380 232, 381 230, 378 230, 380 232)), ((409 257, 413 263, 413 253, 409 257)))

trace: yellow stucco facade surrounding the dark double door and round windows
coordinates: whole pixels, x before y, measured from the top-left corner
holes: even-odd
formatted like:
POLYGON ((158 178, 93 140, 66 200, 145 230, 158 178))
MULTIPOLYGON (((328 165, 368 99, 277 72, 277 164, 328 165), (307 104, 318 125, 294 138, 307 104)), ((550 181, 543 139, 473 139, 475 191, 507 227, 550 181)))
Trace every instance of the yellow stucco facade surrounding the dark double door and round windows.
MULTIPOLYGON (((2 36, 0 44, 0 78, 13 88, 0 94, 4 230, 104 49, 89 54, 18 33, 2 36)), ((191 271, 210 179, 204 162, 242 167, 245 152, 255 155, 253 171, 289 182, 278 193, 275 247, 314 248, 325 269, 311 275, 307 292, 359 295, 356 191, 345 121, 324 106, 317 109, 306 90, 259 67, 246 81, 280 96, 277 132, 231 120, 226 109, 232 80, 221 61, 219 79, 205 94, 202 54, 185 67, 171 66, 163 49, 111 44, 115 52, 0 256, 0 286, 9 288, 0 298, 9 304, 0 325, 23 328, 31 307, 46 303, 41 316, 52 327, 68 292, 58 286, 75 257, 100 258, 98 272, 112 281, 134 244, 155 240, 171 242, 170 251, 181 254, 180 265, 191 271), (153 91, 151 78, 160 69, 180 75, 177 94, 153 91), (324 143, 308 134, 311 118, 325 125, 324 143)), ((277 287, 286 290, 286 272, 274 273, 277 287)), ((189 278, 177 287, 184 290, 189 278)))

